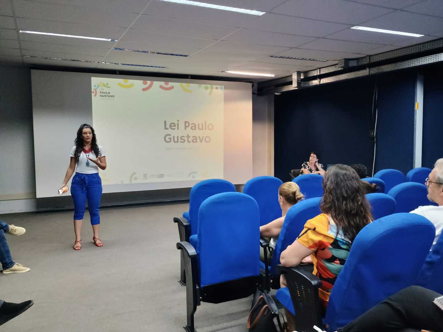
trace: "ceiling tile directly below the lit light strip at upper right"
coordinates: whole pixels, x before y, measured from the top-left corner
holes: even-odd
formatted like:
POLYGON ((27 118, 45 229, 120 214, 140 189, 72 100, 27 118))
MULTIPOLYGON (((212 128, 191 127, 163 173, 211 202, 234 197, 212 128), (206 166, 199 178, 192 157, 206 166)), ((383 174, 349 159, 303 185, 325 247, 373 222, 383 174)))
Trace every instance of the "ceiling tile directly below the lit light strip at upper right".
POLYGON ((364 30, 356 30, 356 29, 346 29, 342 31, 338 31, 332 35, 327 36, 328 39, 338 39, 338 40, 347 40, 352 42, 370 42, 373 44, 394 44, 396 42, 401 42, 411 37, 408 36, 400 36, 400 35, 391 35, 385 34, 381 32, 372 32, 372 31, 364 31, 364 30))

